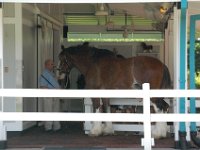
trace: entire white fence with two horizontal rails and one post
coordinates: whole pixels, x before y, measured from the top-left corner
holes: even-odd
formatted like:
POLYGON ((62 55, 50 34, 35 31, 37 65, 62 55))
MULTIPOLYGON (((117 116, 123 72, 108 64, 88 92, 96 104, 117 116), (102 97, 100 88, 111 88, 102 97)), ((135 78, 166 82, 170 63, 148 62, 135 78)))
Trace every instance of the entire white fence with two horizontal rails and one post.
MULTIPOLYGON (((46 90, 46 89, 1 89, 2 97, 110 97, 143 98, 143 114, 137 113, 42 113, 42 112, 0 112, 3 121, 112 121, 143 122, 144 138, 142 145, 151 150, 154 140, 151 137, 151 122, 199 122, 200 114, 151 114, 150 97, 200 97, 199 90, 150 90, 143 84, 143 90, 46 90)), ((3 101, 2 101, 3 106, 3 101)), ((3 132, 3 127, 0 133, 3 132)), ((1 139, 0 139, 1 140, 1 139)))

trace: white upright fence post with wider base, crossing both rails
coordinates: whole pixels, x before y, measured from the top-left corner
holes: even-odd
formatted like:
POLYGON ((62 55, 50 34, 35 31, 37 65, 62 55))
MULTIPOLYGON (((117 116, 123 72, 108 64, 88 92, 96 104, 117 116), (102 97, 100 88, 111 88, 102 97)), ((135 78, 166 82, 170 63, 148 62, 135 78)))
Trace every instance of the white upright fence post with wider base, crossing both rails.
POLYGON ((154 145, 154 139, 151 138, 151 111, 150 111, 150 86, 149 83, 142 85, 144 91, 143 98, 143 114, 145 117, 144 121, 144 138, 142 139, 142 146, 145 150, 151 150, 151 146, 154 145))

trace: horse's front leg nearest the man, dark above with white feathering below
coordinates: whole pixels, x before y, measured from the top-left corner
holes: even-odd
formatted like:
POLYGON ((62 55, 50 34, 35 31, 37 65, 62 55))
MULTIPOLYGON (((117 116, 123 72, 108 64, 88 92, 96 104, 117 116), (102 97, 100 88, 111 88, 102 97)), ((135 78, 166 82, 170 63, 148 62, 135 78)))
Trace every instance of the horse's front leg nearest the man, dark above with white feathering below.
MULTIPOLYGON (((92 98, 93 112, 102 112, 102 102, 100 98, 92 98)), ((99 136, 103 133, 102 121, 94 121, 89 136, 99 136)))

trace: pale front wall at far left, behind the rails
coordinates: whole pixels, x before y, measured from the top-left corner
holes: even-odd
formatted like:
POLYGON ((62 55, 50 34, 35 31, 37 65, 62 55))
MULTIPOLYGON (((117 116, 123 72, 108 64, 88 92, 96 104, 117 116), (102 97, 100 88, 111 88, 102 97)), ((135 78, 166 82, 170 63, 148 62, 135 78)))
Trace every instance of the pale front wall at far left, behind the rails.
MULTIPOLYGON (((22 88, 22 5, 3 4, 4 88, 22 88)), ((4 98, 3 111, 21 112, 22 98, 4 98)), ((8 131, 21 131, 22 122, 6 122, 8 131)))

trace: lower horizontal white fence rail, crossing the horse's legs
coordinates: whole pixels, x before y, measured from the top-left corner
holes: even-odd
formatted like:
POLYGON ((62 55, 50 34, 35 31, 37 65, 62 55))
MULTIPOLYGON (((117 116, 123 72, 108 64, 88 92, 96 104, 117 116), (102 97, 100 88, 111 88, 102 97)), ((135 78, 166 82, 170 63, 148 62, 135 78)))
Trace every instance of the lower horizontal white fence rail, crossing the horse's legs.
MULTIPOLYGON (((0 112, 0 121, 111 121, 144 122, 139 113, 0 112)), ((150 114, 151 122, 200 122, 200 114, 150 114)))

